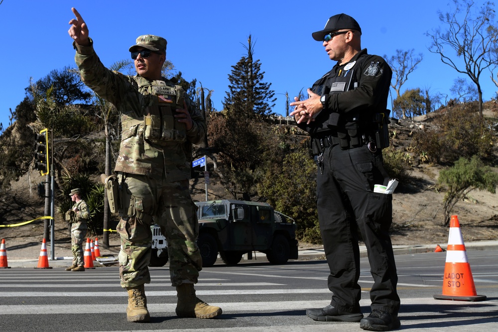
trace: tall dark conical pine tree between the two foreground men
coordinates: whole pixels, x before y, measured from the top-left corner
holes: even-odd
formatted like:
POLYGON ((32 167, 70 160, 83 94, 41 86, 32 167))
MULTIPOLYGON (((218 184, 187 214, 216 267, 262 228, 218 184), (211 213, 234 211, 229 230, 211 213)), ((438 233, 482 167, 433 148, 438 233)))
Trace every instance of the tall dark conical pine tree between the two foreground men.
POLYGON ((256 116, 269 115, 275 106, 276 98, 271 83, 263 82, 264 72, 261 72, 259 60, 253 60, 254 49, 251 35, 248 38, 247 56, 243 56, 239 62, 232 66, 232 73, 228 75, 230 91, 223 102, 223 107, 230 115, 253 118, 256 116))

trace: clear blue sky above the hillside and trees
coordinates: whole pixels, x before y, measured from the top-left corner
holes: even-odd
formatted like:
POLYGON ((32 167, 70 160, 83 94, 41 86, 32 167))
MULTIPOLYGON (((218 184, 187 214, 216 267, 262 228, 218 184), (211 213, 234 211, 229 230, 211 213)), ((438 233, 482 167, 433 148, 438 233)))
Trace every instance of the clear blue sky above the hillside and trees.
MULTIPOLYGON (((481 1, 477 0, 477 3, 481 1)), ((274 112, 285 113, 285 96, 299 93, 329 71, 334 62, 311 33, 327 19, 344 12, 362 27, 362 46, 369 53, 392 56, 396 49, 415 49, 423 61, 409 76, 402 91, 429 88, 450 94, 457 77, 466 78, 441 62, 427 47, 427 31, 441 25, 438 10, 448 0, 418 1, 111 1, 111 0, 3 0, 0 4, 0 41, 3 79, 0 80, 0 122, 8 123, 12 110, 23 100, 24 88, 53 69, 74 66, 74 50, 67 30, 71 7, 81 13, 106 66, 129 58, 128 48, 141 34, 167 39, 167 58, 187 80, 197 79, 214 90, 215 108, 222 109, 228 75, 246 54, 247 37, 254 41, 254 58, 261 62, 264 81, 271 83, 277 101, 274 112)), ((443 27, 443 26, 442 26, 443 27)), ((452 51, 453 52, 453 51, 452 51)), ((484 100, 496 97, 498 88, 485 72, 484 100)), ((390 103, 390 102, 389 102, 390 103)))

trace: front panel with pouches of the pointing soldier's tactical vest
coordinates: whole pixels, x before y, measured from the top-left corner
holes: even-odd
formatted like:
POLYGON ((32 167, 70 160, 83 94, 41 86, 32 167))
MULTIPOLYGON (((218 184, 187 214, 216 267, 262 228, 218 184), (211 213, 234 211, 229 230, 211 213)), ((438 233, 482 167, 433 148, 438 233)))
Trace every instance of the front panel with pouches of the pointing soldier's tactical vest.
POLYGON ((186 124, 174 117, 176 109, 183 109, 185 96, 182 87, 153 86, 152 92, 158 103, 148 106, 144 111, 144 138, 155 144, 185 142, 186 124))

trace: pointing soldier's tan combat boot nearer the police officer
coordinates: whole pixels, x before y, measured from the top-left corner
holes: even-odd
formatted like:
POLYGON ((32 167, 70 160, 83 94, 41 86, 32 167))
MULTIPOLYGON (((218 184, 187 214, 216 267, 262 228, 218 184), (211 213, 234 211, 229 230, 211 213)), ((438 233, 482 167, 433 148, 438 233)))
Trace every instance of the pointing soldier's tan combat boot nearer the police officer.
POLYGON ((219 307, 210 306, 195 296, 194 284, 176 286, 178 302, 176 315, 183 318, 215 318, 221 315, 219 307))

